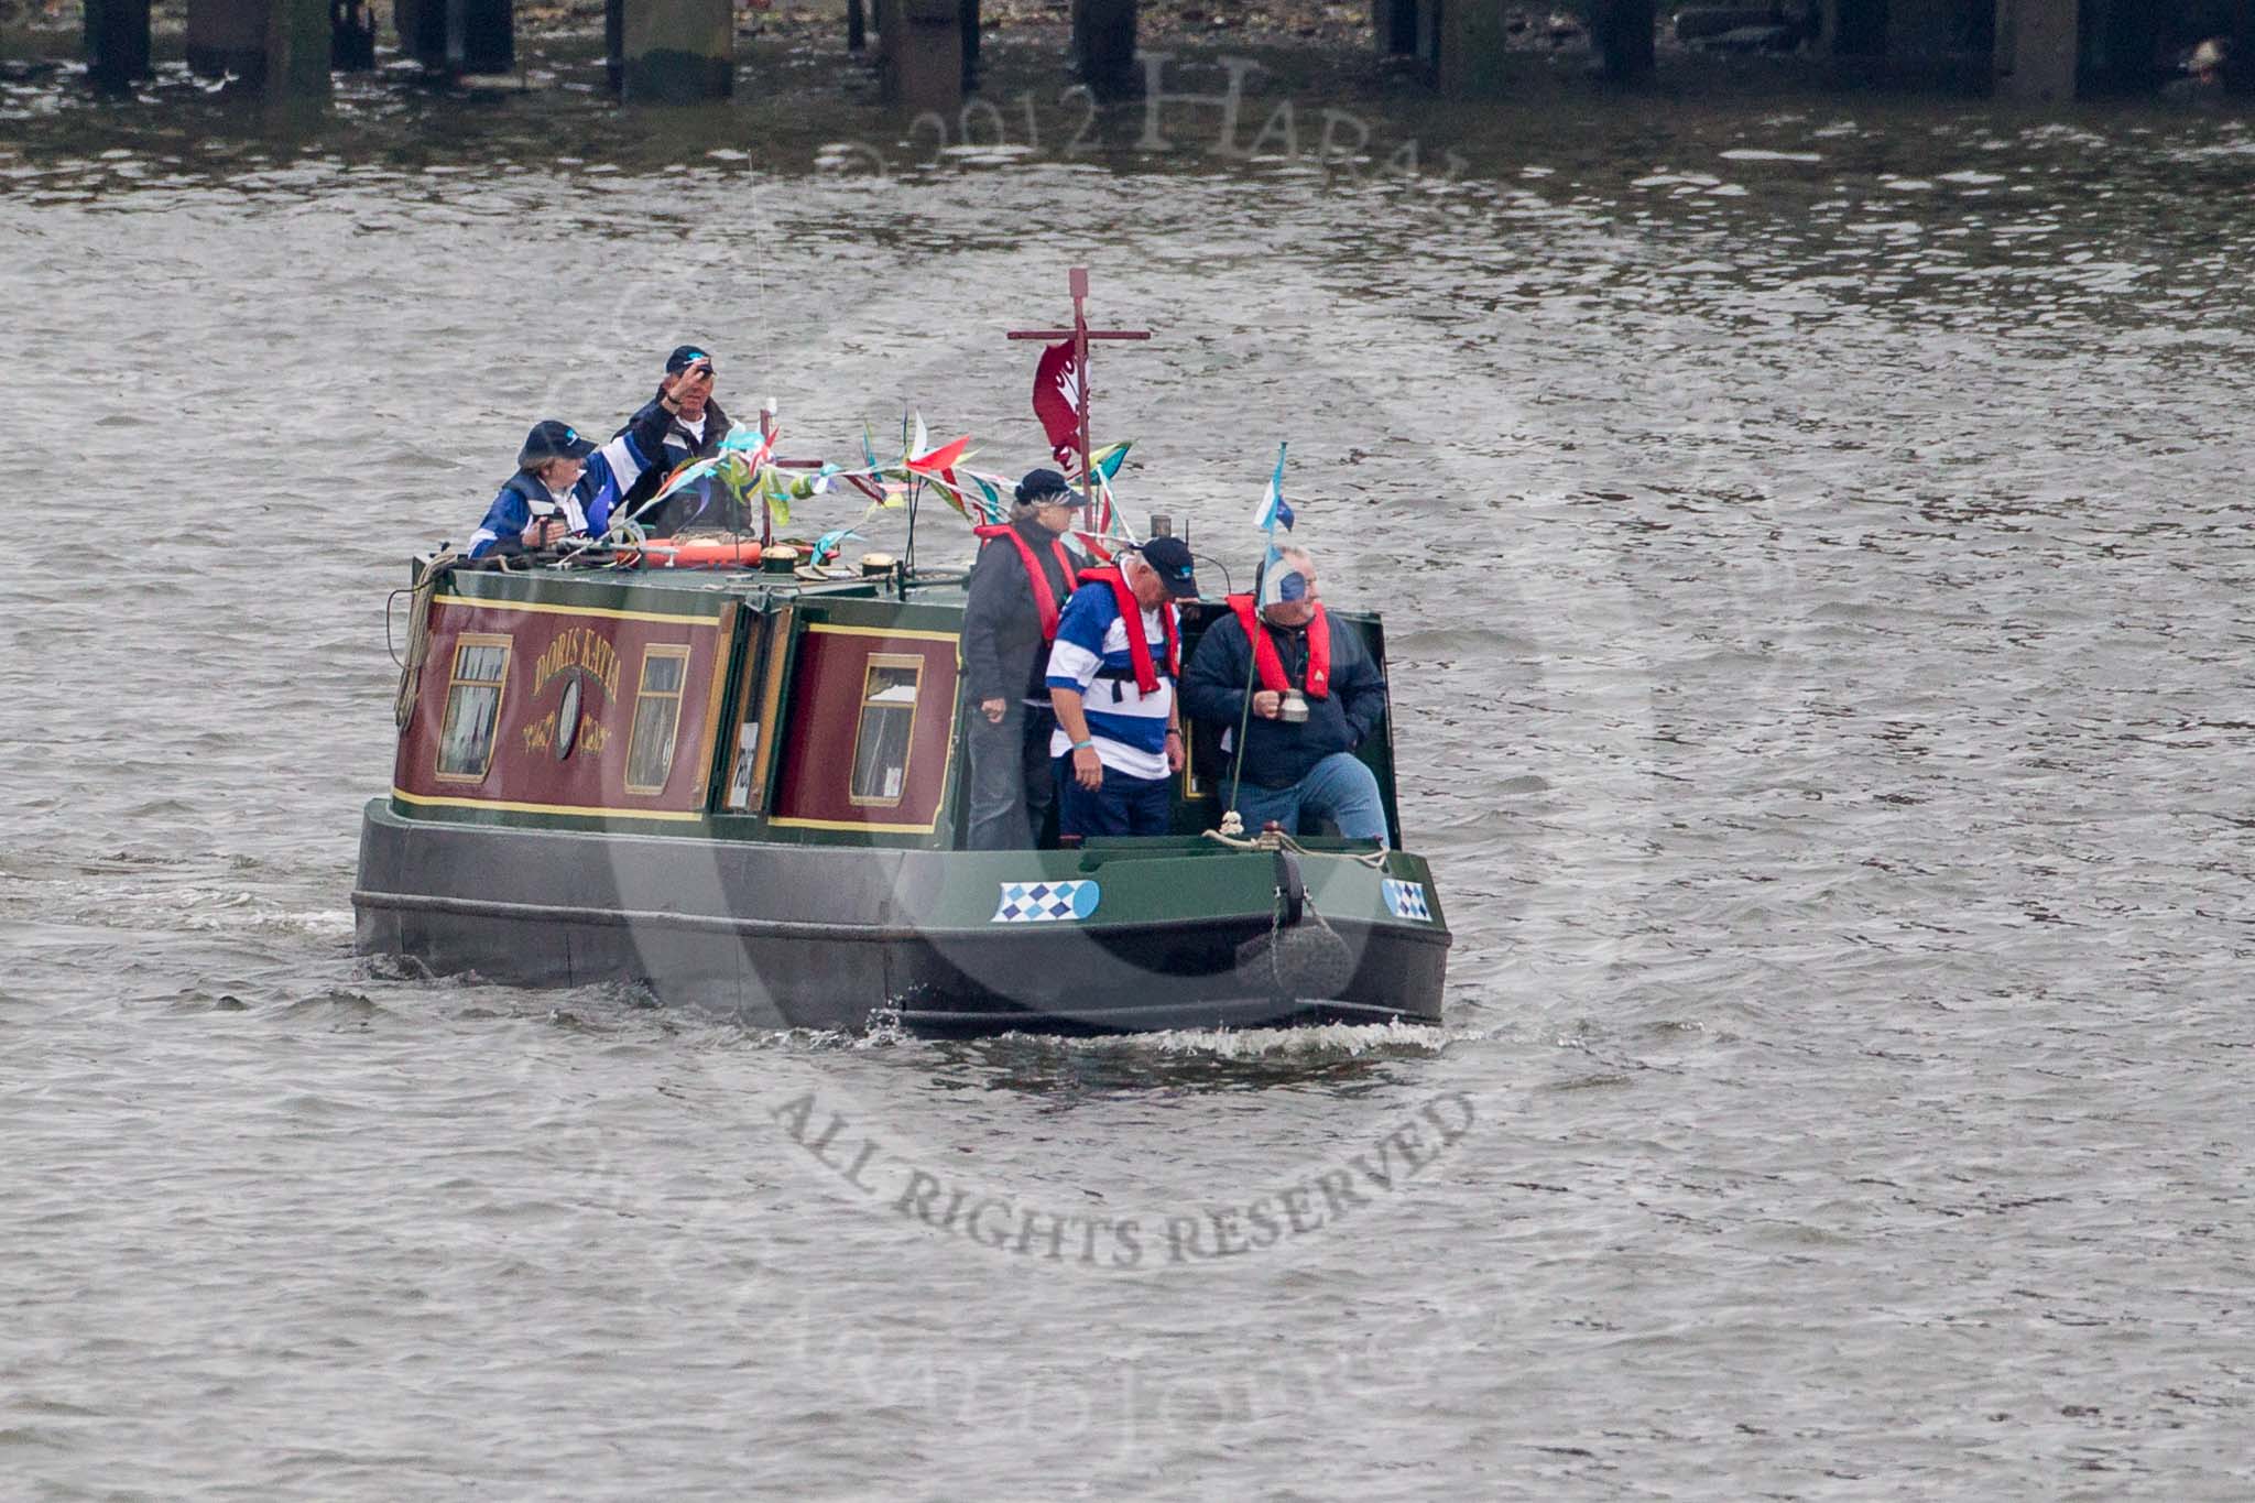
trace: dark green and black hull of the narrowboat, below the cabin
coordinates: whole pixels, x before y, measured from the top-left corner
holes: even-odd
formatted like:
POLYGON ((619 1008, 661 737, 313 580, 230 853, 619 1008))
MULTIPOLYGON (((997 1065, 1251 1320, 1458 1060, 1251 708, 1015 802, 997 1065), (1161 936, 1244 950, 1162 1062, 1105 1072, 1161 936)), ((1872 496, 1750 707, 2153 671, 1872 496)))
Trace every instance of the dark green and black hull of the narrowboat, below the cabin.
POLYGON ((631 982, 755 1028, 1143 1032, 1441 1016, 1418 856, 1202 838, 823 847, 419 820, 368 804, 356 946, 543 987, 631 982))

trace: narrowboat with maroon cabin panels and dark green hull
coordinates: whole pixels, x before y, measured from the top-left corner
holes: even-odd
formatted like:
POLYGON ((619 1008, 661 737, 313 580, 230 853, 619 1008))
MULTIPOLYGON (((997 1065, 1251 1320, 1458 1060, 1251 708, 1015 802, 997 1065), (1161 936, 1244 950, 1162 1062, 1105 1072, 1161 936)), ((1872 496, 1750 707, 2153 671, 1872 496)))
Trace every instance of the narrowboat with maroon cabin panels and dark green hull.
MULTIPOLYGON (((419 559, 356 949, 634 982, 755 1028, 920 1034, 1436 1021, 1450 931, 1400 847, 1224 836, 1195 728, 1175 834, 963 845, 961 570, 419 559)), ((1220 602, 1186 602, 1186 649, 1220 602)), ((1335 611, 1382 665, 1376 615, 1335 611)))

